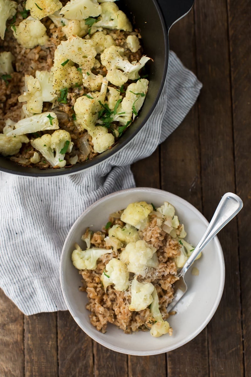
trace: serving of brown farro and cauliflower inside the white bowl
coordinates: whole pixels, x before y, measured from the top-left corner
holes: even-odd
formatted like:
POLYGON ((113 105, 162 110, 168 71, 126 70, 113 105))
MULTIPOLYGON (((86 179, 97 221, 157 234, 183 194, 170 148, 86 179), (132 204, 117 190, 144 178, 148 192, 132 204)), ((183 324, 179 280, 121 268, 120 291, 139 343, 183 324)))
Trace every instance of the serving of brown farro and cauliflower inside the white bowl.
POLYGON ((113 323, 125 333, 172 335, 166 308, 173 299, 177 269, 194 250, 184 240, 184 225, 164 202, 134 202, 110 215, 100 231, 85 230, 86 250, 75 244, 73 265, 83 277, 86 308, 97 330, 113 323))

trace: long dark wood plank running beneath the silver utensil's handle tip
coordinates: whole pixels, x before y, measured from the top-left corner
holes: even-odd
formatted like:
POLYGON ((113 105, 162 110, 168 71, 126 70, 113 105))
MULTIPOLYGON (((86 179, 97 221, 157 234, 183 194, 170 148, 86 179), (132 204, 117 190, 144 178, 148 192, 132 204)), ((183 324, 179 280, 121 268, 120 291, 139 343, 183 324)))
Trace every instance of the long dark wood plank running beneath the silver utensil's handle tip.
MULTIPOLYGON (((210 219, 221 196, 235 191, 227 8, 224 0, 195 2, 199 130, 204 215, 210 219)), ((225 254, 225 289, 208 325, 210 376, 243 376, 237 224, 219 234, 225 254)))

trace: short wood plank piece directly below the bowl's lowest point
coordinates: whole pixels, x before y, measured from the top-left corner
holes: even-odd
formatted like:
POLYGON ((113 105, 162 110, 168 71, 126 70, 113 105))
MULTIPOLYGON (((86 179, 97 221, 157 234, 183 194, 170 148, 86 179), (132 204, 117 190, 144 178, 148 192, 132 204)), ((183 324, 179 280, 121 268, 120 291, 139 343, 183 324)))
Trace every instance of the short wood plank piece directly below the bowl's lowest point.
POLYGON ((166 377, 165 354, 154 356, 128 356, 129 377, 166 377))

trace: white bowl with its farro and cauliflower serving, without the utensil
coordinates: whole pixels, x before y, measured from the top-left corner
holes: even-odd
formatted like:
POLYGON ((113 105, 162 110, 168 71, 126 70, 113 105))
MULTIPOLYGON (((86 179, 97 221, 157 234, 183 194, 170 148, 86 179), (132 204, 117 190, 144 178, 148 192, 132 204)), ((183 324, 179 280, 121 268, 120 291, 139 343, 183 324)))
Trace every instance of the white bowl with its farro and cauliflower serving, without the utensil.
POLYGON ((123 190, 92 204, 71 227, 61 255, 67 307, 91 338, 133 355, 167 352, 207 325, 224 287, 217 237, 188 272, 184 299, 167 313, 177 271, 207 220, 184 199, 150 188, 123 190))

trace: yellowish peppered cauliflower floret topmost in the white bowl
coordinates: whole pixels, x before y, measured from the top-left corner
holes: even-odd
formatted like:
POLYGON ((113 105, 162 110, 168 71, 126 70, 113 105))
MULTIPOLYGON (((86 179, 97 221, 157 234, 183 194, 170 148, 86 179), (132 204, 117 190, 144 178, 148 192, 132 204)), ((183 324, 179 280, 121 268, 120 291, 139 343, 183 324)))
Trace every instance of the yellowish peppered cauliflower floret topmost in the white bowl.
POLYGON ((153 208, 151 204, 146 202, 130 203, 120 216, 121 221, 140 228, 141 223, 148 218, 153 208))

